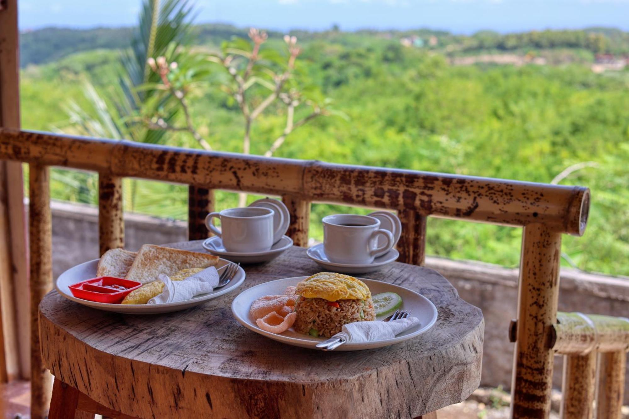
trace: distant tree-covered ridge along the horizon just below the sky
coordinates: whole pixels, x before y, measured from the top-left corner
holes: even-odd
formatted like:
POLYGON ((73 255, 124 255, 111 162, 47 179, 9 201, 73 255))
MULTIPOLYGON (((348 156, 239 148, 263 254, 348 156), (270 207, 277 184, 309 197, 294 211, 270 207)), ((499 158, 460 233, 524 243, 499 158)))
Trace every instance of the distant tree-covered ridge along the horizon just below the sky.
MULTIPOLYGON (((72 53, 96 48, 118 49, 128 46, 131 28, 94 28, 72 30, 65 28, 43 28, 21 33, 19 40, 20 64, 44 64, 67 57, 72 53)), ((269 38, 281 38, 284 33, 267 31, 269 38)), ((584 30, 544 30, 501 34, 494 31, 479 31, 474 35, 455 35, 439 30, 371 31, 354 33, 330 31, 293 30, 289 35, 298 36, 303 42, 326 40, 350 46, 372 42, 374 38, 397 40, 416 36, 431 50, 448 55, 477 53, 480 51, 543 50, 547 48, 581 48, 593 53, 629 54, 629 33, 613 28, 586 28, 584 30), (429 45, 434 36, 437 44, 429 45)), ((226 24, 195 25, 192 42, 197 45, 218 46, 233 36, 247 36, 247 29, 226 24)))

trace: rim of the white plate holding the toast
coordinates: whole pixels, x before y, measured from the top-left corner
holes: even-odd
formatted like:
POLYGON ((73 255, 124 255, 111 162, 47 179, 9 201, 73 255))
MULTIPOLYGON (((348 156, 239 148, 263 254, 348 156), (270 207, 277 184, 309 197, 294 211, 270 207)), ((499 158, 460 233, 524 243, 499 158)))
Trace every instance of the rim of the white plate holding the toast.
MULTIPOLYGON (((78 265, 74 265, 72 267, 70 267, 69 269, 66 269, 64 272, 62 272, 57 279, 55 279, 55 291, 57 291, 57 293, 59 293, 62 297, 69 299, 70 301, 74 301, 75 303, 79 303, 82 306, 86 306, 86 307, 90 307, 90 308, 96 308, 99 310, 104 310, 104 311, 112 311, 110 309, 112 308, 118 308, 120 306, 124 306, 124 311, 145 311, 145 310, 150 310, 150 306, 155 305, 155 308, 157 309, 158 307, 161 308, 176 308, 178 306, 182 306, 184 304, 194 304, 194 303, 203 303, 203 301, 207 301, 209 299, 214 299, 214 298, 218 298, 224 294, 229 293, 230 291, 232 291, 233 289, 238 288, 244 281, 245 278, 247 277, 247 273, 245 272, 244 269, 242 269, 242 267, 238 267, 238 271, 240 271, 242 273, 242 278, 238 279, 238 281, 234 282, 234 284, 230 287, 230 288, 224 288, 221 289, 221 291, 218 291, 218 293, 216 294, 206 294, 204 296, 200 296, 200 297, 195 297, 195 298, 190 298, 190 299, 186 299, 184 301, 177 301, 175 303, 164 303, 164 304, 113 304, 113 303, 99 303, 98 301, 89 301, 86 299, 82 299, 82 298, 77 298, 75 296, 73 296, 72 294, 67 294, 64 291, 62 291, 59 288, 59 278, 65 274, 65 272, 70 271, 70 269, 74 269, 75 267, 79 267, 81 265, 87 265, 87 264, 93 264, 93 263, 98 263, 98 261, 100 260, 100 258, 98 259, 92 259, 92 260, 87 260, 86 262, 83 262, 81 264, 78 265), (87 303, 89 304, 86 304, 87 303), (102 307, 102 308, 101 308, 102 307), (142 310, 144 309, 144 310, 142 310)), ((231 262, 231 260, 227 260, 227 259, 223 259, 222 257, 219 258, 219 260, 223 260, 227 263, 233 263, 231 262)), ((182 309, 183 310, 183 309, 182 309)), ((120 311, 118 311, 120 313, 120 311)))

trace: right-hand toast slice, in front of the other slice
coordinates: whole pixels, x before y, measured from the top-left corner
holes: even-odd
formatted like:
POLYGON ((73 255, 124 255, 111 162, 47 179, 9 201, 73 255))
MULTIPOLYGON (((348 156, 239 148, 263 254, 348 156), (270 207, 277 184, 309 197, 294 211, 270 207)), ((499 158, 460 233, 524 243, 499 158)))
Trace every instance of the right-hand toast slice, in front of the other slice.
POLYGON ((133 261, 126 279, 147 284, 155 281, 160 274, 171 276, 182 269, 206 268, 218 264, 218 260, 218 256, 206 253, 143 245, 133 261))

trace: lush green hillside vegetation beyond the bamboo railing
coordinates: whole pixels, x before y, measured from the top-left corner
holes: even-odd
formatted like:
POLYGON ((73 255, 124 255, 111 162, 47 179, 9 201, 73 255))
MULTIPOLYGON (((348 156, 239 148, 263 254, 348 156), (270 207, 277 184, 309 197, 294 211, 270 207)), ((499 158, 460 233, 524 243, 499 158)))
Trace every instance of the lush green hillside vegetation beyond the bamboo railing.
MULTIPOLYGON (((231 26, 222 26, 222 32, 220 28, 198 26, 196 43, 211 49, 233 35, 245 36, 243 30, 231 26)), ((626 33, 588 30, 462 37, 430 32, 423 36, 426 40, 437 36, 434 47, 403 47, 399 38, 409 35, 297 33, 303 40, 299 77, 332 99, 331 106, 347 118, 312 121, 287 137, 275 155, 535 182, 551 182, 564 169, 582 164, 559 179, 561 184, 590 187, 593 196, 586 234, 565 238, 563 263, 588 271, 629 274, 628 72, 594 74, 582 64, 452 66, 448 61, 454 51, 567 48, 590 54, 623 53, 629 49, 626 33), (458 45, 458 49, 448 51, 448 45, 458 45)), ((89 45, 89 37, 76 38, 89 45)), ((116 49, 120 44, 114 37, 111 43, 105 38, 86 52, 61 59, 44 54, 35 61, 28 58, 30 47, 26 47, 23 64, 30 65, 21 80, 25 128, 72 131, 67 112, 71 103, 96 115, 98 109, 84 95, 84 81, 105 92, 120 70, 116 49), (33 64, 48 60, 55 61, 33 64)), ((23 36, 23 45, 32 39, 23 36)), ((279 34, 271 33, 268 48, 283 53, 282 47, 279 34)), ((218 70, 208 75, 203 90, 192 92, 192 118, 214 148, 238 152, 242 115, 217 77, 218 70)), ((263 154, 281 134, 283 124, 283 108, 261 116, 252 131, 252 153, 263 154)), ((167 142, 198 147, 187 133, 169 133, 167 142)), ((133 210, 185 218, 185 187, 138 185, 133 210)), ((53 176, 54 198, 94 203, 95 187, 90 174, 57 170, 53 176)), ((236 203, 235 194, 230 193, 221 193, 218 200, 218 209, 236 203)), ((313 206, 311 235, 321 238, 321 216, 346 210, 313 206)), ((521 230, 516 228, 437 219, 428 224, 428 253, 445 257, 515 266, 520 240, 521 230)))

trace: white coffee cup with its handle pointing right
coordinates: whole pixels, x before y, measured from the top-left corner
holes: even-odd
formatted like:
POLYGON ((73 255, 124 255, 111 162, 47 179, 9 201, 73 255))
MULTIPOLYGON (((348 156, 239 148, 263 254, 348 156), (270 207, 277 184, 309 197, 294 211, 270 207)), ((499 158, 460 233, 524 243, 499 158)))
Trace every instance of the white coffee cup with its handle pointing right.
POLYGON ((380 228, 380 221, 374 217, 353 214, 323 217, 323 251, 330 262, 368 265, 394 243, 391 232, 380 228), (386 238, 386 243, 378 246, 378 237, 386 238))

